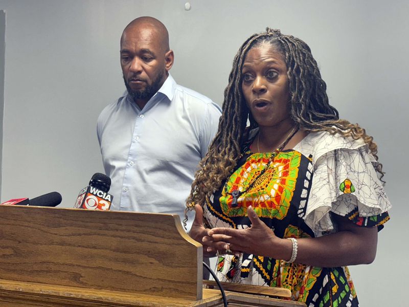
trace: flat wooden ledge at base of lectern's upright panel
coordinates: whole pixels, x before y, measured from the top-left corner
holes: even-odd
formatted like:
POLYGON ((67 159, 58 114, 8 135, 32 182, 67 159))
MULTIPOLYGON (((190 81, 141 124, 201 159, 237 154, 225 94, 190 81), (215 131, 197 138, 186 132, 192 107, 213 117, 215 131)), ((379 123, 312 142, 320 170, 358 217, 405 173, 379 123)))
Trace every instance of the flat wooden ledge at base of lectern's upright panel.
MULTIPOLYGON (((231 306, 246 307, 306 307, 304 303, 226 291, 231 306)), ((0 304, 7 306, 44 307, 219 307, 223 306, 219 290, 203 289, 199 300, 174 298, 162 295, 124 293, 118 291, 93 290, 65 286, 17 282, 0 279, 0 304), (13 302, 13 303, 11 303, 13 302)))

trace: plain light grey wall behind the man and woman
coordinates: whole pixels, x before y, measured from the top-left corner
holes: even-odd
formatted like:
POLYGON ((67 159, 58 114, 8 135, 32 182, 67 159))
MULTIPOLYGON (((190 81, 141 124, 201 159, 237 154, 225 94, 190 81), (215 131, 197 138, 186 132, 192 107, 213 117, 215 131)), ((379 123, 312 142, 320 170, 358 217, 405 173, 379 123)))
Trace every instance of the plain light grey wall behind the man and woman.
MULTIPOLYGON (((392 220, 370 266, 352 267, 361 306, 405 306, 409 86, 406 1, 0 0, 6 10, 2 201, 57 190, 71 207, 102 171, 101 109, 123 92, 119 39, 137 16, 163 21, 172 75, 221 104, 233 57, 266 26, 311 47, 340 116, 375 136, 392 220)), ((365 251, 362 251, 365 252, 365 251)))

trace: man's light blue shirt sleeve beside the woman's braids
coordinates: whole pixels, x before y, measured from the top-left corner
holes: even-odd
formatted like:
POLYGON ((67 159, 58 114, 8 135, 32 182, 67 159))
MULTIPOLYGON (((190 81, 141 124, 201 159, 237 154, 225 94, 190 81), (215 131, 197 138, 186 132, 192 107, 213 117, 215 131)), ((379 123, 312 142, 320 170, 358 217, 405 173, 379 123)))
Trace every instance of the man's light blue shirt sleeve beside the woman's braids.
POLYGON ((221 108, 214 102, 207 104, 207 111, 200 130, 200 155, 203 159, 217 133, 221 108))

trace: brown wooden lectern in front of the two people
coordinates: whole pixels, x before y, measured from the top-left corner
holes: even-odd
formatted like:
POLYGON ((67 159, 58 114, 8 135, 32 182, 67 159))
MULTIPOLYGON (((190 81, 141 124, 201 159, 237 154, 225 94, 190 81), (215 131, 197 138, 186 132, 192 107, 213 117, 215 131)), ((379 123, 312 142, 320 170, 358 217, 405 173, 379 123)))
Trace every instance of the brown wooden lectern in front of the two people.
MULTIPOLYGON (((226 285, 229 306, 305 306, 241 287, 226 285)), ((0 306, 222 305, 177 215, 0 206, 0 306)))

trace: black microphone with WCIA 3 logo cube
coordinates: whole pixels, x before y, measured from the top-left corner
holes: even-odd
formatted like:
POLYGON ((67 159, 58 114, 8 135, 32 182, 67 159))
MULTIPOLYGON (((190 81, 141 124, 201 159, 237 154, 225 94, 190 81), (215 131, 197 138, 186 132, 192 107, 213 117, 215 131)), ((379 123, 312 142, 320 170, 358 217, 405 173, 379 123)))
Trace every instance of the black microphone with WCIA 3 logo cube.
POLYGON ((74 208, 109 210, 113 196, 108 194, 111 179, 103 173, 95 173, 89 184, 77 196, 74 208))

